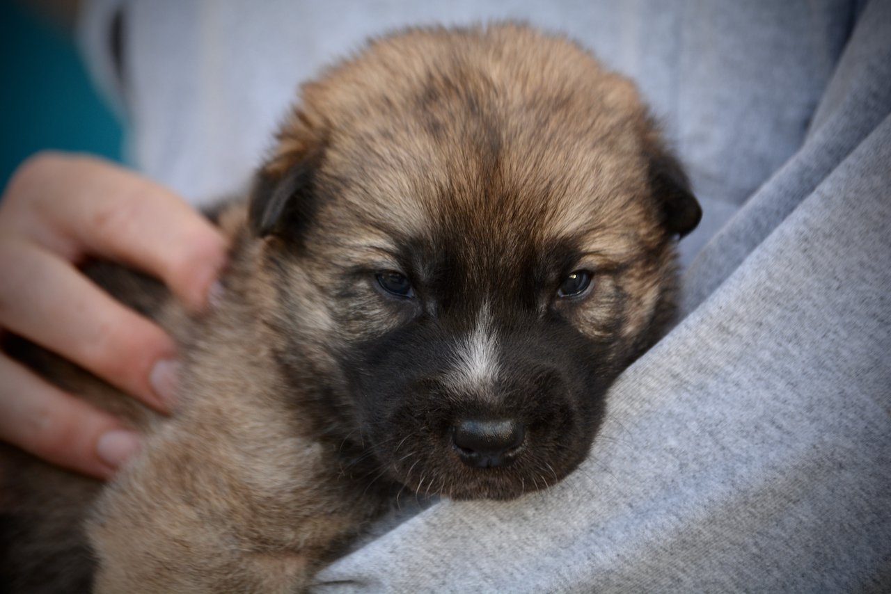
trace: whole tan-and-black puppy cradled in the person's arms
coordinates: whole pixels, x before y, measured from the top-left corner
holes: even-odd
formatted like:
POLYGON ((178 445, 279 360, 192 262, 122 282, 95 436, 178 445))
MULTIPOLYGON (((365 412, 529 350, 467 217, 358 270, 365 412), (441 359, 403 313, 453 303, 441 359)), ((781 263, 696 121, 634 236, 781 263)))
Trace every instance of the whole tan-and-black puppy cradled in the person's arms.
POLYGON ((302 87, 249 200, 218 216, 214 311, 89 271, 178 339, 173 419, 7 345, 148 436, 105 485, 7 449, 6 580, 300 591, 394 489, 554 484, 670 321, 698 221, 634 85, 578 46, 512 24, 373 42, 302 87))

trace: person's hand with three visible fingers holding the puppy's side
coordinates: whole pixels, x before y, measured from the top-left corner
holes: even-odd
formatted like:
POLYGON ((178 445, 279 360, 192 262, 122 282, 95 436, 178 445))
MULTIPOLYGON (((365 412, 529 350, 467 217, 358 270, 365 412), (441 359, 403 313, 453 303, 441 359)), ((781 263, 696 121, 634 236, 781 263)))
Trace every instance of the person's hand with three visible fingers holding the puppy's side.
MULTIPOLYGON (((101 159, 40 153, 19 167, 0 201, 0 329, 168 412, 172 339, 77 265, 91 256, 127 264, 200 310, 225 248, 212 224, 159 185, 101 159)), ((3 353, 0 378, 0 441, 102 478, 138 449, 139 436, 118 419, 3 353)))

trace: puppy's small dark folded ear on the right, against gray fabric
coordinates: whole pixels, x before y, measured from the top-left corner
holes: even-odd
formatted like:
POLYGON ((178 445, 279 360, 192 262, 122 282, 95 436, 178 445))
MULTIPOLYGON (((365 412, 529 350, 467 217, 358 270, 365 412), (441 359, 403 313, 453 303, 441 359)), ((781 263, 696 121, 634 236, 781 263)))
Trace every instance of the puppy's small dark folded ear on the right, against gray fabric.
POLYGON ((647 167, 650 191, 661 207, 662 223, 667 231, 682 238, 696 229, 702 208, 690 189, 690 180, 673 155, 656 149, 648 151, 647 167))

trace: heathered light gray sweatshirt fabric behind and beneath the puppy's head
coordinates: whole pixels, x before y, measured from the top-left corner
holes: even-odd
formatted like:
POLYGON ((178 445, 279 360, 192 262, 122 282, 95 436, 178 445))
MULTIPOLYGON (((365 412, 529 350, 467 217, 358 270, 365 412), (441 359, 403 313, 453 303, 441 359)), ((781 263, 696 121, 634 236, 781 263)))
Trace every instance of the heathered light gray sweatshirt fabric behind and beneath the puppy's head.
POLYGON ((619 379, 582 468, 381 527, 317 590, 891 589, 891 2, 125 7, 127 84, 105 88, 137 167, 196 202, 244 183, 292 86, 361 37, 497 17, 634 77, 706 209, 687 316, 619 379))

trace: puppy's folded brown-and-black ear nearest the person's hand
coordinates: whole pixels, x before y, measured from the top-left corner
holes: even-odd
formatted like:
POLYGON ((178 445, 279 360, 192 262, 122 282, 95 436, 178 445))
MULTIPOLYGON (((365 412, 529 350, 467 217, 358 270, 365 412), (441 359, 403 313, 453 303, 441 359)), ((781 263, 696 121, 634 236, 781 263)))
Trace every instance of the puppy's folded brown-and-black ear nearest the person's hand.
POLYGON ((276 154, 254 178, 248 221, 257 237, 299 240, 318 206, 315 174, 322 164, 324 142, 300 112, 295 112, 278 140, 276 154))

